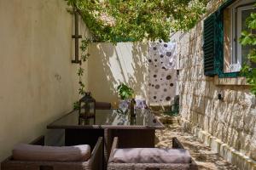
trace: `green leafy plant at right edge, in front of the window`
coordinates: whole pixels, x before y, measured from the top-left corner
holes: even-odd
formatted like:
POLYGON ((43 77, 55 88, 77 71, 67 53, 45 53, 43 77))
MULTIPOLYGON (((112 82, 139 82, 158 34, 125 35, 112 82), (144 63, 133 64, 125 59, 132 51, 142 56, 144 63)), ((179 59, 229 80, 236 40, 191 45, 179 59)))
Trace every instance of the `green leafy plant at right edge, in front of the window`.
MULTIPOLYGON (((256 4, 255 4, 256 5, 256 4)), ((242 66, 241 75, 247 78, 251 85, 251 92, 256 95, 256 13, 252 13, 246 20, 249 31, 242 31, 240 42, 243 46, 253 47, 247 55, 247 63, 242 66)))

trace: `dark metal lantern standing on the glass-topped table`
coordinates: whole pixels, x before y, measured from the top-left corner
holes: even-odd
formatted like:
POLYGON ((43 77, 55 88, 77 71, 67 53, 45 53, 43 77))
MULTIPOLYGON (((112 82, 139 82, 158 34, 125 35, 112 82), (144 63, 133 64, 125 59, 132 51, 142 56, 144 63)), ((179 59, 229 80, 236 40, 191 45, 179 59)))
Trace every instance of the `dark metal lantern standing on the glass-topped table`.
POLYGON ((85 93, 84 97, 79 100, 79 124, 82 121, 84 124, 88 124, 91 118, 95 124, 96 100, 91 97, 90 93, 85 93))

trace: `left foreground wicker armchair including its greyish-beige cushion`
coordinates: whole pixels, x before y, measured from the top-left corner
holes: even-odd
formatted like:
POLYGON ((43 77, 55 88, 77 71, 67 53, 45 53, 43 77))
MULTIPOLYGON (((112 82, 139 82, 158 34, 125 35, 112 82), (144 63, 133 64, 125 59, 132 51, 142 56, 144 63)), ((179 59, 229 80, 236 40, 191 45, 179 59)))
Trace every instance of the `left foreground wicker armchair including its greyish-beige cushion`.
POLYGON ((17 144, 2 170, 101 170, 102 137, 90 145, 45 146, 44 136, 32 144, 17 144))

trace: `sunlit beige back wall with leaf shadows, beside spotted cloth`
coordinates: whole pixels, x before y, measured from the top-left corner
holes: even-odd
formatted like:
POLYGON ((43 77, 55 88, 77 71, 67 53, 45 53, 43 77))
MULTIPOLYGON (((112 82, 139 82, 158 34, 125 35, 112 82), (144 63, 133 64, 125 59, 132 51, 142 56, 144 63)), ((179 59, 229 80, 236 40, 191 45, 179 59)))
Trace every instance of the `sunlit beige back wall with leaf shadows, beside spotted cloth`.
POLYGON ((117 106, 116 88, 121 82, 129 84, 138 98, 148 98, 148 44, 92 43, 89 54, 87 86, 96 100, 117 106))

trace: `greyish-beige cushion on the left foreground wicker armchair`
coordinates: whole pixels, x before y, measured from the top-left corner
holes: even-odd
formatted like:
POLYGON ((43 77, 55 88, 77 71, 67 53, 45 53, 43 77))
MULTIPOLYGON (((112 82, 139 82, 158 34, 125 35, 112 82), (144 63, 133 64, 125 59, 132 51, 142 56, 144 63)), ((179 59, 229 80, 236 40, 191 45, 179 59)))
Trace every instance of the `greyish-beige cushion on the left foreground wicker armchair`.
POLYGON ((20 161, 87 161, 90 145, 55 147, 18 144, 13 150, 13 158, 20 161))

